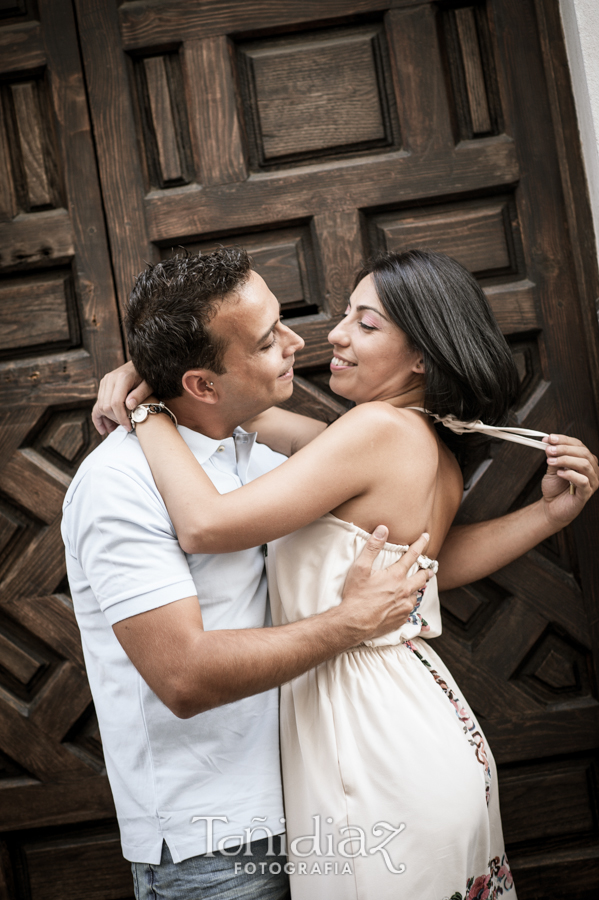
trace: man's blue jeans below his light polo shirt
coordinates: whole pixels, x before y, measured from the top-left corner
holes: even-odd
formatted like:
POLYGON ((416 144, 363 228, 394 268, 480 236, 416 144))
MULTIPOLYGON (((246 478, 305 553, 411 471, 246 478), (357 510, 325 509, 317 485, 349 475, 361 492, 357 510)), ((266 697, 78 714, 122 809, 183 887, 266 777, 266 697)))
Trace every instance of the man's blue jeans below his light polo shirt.
MULTIPOLYGON (((131 863, 136 900, 289 900, 289 878, 279 856, 280 838, 273 839, 275 856, 267 856, 268 839, 252 841, 235 856, 214 851, 174 863, 164 843, 157 866, 131 863), (252 865, 253 864, 253 865, 252 865)), ((227 850, 227 854, 231 850, 227 850)))

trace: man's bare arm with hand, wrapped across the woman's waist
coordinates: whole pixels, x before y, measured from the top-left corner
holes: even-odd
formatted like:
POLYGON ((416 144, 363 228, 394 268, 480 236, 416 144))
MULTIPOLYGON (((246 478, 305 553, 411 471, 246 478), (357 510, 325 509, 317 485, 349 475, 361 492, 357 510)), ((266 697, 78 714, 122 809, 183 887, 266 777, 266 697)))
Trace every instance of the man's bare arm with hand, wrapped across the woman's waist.
POLYGON ((117 622, 114 632, 154 693, 179 718, 277 687, 325 660, 403 625, 430 571, 407 573, 423 535, 398 562, 372 571, 388 530, 379 526, 347 577, 343 602, 277 628, 204 631, 197 597, 117 622))

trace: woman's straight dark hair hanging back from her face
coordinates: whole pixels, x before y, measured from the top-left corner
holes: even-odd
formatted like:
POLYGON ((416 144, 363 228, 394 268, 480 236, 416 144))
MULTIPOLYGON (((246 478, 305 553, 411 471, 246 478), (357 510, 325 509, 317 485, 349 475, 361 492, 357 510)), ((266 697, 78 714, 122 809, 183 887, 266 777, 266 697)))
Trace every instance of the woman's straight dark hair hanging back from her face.
MULTIPOLYGON (((382 253, 356 276, 372 275, 392 322, 423 356, 425 407, 439 416, 505 425, 519 391, 510 348, 480 285, 455 259, 428 250, 382 253)), ((480 441, 439 433, 471 468, 480 441)), ((476 453, 476 456, 480 454, 476 453)))

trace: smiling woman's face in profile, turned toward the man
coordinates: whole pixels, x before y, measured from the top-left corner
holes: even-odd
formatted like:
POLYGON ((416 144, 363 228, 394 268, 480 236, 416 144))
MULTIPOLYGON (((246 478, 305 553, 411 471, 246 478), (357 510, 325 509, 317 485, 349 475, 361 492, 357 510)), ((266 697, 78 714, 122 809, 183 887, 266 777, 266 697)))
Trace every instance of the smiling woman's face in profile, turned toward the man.
POLYGON ((422 355, 383 311, 372 275, 351 295, 345 317, 328 339, 333 345, 331 389, 355 403, 369 400, 422 402, 422 355))

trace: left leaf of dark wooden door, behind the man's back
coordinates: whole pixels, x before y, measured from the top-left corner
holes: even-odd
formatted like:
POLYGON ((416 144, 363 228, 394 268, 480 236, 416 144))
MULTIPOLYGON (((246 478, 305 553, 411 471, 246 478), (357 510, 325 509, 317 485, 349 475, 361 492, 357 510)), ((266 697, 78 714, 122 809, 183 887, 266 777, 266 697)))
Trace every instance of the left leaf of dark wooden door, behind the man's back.
MULTIPOLYGON (((94 893, 76 824, 114 807, 60 537, 98 378, 123 358, 69 2, 1 4, 0 94, 0 897, 117 896, 94 893)), ((101 839, 118 860, 114 826, 101 839)))

